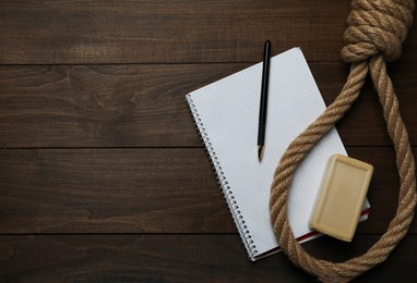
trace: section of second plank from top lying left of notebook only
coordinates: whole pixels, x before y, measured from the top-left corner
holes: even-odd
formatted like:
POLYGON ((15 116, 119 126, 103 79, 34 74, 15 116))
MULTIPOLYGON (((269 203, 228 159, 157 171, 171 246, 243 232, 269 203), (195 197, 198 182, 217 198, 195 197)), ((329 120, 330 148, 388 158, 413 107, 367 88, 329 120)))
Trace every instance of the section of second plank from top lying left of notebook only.
POLYGON ((1 145, 201 146, 184 96, 238 67, 3 66, 1 145))

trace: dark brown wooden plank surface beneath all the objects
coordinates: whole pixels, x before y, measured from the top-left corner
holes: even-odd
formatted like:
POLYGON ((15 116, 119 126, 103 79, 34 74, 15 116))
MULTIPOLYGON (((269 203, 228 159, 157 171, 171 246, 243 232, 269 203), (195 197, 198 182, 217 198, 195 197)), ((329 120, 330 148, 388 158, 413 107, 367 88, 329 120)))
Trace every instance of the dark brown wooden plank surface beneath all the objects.
MULTIPOLYGON (((330 103, 348 73, 349 1, 1 1, 0 282, 313 282, 283 254, 250 262, 184 95, 299 46, 330 103)), ((389 65, 417 146, 417 29, 389 65)), ((307 243, 342 261, 396 210, 394 152, 374 90, 337 124, 376 167, 353 243, 307 243)), ((417 225, 364 282, 416 282, 417 225)))

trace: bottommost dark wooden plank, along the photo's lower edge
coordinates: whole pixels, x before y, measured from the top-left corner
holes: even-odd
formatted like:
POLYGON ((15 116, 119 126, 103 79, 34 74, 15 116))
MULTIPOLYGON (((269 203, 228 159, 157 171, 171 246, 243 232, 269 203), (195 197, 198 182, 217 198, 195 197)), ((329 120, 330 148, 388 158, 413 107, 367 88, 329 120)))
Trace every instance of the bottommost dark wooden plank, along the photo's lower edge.
MULTIPOLYGON (((346 260, 378 235, 355 243, 326 237, 305 244, 315 256, 346 260)), ((0 236, 4 282, 311 282, 283 254, 252 263, 235 235, 0 236)), ((415 282, 417 236, 405 237, 392 256, 359 282, 415 282), (401 270, 401 272, 398 272, 401 270)))

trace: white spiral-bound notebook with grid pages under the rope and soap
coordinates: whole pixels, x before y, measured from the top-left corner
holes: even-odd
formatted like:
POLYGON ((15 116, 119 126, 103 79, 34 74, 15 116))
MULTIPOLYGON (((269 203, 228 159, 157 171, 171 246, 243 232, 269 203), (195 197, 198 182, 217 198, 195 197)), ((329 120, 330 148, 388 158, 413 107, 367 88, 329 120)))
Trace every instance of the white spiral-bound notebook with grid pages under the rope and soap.
MULTIPOLYGON (((258 120, 262 63, 187 95, 219 186, 249 258, 279 248, 270 219, 270 189, 275 168, 289 143, 325 109, 299 48, 271 59, 264 153, 258 160, 258 120)), ((289 223, 306 242, 317 236, 308 226, 327 159, 347 155, 335 128, 308 153, 295 173, 288 197, 289 223)), ((364 204, 362 219, 369 213, 364 204)))

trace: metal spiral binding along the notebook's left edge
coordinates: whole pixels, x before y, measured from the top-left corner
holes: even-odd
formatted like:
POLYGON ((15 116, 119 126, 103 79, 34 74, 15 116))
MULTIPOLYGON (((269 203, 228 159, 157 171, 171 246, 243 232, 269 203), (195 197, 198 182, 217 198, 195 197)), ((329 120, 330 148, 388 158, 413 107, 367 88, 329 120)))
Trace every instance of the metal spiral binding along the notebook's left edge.
POLYGON ((233 194, 233 190, 229 186, 229 183, 227 181, 227 177, 225 176, 221 163, 217 159, 216 152, 214 151, 214 148, 212 146, 212 143, 210 142, 210 137, 207 133, 205 132, 204 124, 202 123, 199 112, 195 108, 195 104, 193 103, 191 96, 188 95, 187 97, 187 102, 190 107, 191 114, 194 120, 194 124, 196 128, 199 130, 200 137, 203 140, 205 148, 207 150, 207 155, 210 156, 211 163, 214 168, 214 171, 216 173, 217 182, 222 187, 222 193, 223 196, 226 199, 226 202, 229 207, 230 213, 235 220, 235 224, 238 227, 238 231, 240 233, 241 238, 243 239, 243 244, 247 247, 248 251, 251 254, 253 257, 255 254, 258 254, 257 246, 253 243, 252 236, 248 230, 248 226, 246 225, 243 216, 239 209, 239 206, 235 199, 235 196, 233 194))

